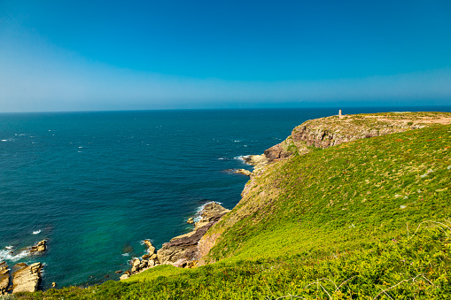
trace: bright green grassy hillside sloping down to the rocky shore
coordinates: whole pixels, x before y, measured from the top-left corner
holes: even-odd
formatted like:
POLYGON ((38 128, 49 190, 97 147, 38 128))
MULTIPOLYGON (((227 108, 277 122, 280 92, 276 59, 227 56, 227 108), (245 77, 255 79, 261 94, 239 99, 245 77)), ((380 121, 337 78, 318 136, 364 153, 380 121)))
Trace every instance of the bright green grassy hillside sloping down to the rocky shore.
POLYGON ((207 233, 212 264, 21 297, 447 298, 450 151, 451 126, 436 126, 281 160, 207 233))

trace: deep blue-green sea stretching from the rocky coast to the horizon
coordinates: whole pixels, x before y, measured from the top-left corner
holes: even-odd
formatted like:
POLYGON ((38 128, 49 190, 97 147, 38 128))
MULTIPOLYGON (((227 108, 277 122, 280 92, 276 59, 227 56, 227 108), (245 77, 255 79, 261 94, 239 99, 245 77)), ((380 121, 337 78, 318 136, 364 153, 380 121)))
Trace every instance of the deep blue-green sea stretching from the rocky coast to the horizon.
MULTIPOLYGON (((349 108, 344 113, 442 111, 349 108)), ((0 261, 44 263, 43 288, 118 279, 142 256, 190 231, 202 204, 231 209, 260 154, 307 119, 338 108, 0 114, 0 261), (48 239, 30 257, 26 247, 48 239), (11 253, 12 252, 12 253, 11 253)))

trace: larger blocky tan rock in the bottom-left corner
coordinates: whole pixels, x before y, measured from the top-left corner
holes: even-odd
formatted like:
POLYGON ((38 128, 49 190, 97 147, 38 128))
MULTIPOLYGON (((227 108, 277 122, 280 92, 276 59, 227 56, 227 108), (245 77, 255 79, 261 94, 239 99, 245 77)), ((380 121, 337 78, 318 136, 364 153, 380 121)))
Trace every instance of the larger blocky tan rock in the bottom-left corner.
POLYGON ((12 273, 12 294, 19 292, 35 292, 41 282, 41 263, 14 265, 18 270, 12 273))

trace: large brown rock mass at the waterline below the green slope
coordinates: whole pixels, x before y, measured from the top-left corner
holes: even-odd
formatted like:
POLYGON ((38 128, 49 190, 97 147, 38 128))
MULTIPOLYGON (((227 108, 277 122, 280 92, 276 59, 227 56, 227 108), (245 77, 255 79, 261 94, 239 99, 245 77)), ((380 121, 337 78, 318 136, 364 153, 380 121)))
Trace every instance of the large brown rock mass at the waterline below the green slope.
POLYGON ((201 219, 196 223, 196 230, 187 235, 181 235, 166 242, 158 250, 161 264, 171 264, 180 267, 192 267, 198 260, 198 242, 228 209, 217 203, 206 204, 201 212, 201 219))

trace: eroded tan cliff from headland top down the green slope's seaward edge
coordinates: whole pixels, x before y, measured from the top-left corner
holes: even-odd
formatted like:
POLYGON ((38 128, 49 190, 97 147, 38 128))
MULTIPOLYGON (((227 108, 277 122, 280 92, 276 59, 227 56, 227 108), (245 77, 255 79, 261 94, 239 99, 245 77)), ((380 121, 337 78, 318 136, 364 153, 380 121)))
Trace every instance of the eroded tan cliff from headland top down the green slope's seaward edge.
POLYGON ((278 193, 276 182, 272 182, 271 173, 277 172, 287 158, 293 155, 305 155, 315 148, 324 149, 343 142, 400 133, 416 128, 431 127, 436 124, 451 124, 448 112, 386 112, 349 116, 330 116, 308 120, 292 130, 292 135, 262 155, 249 156, 245 162, 254 165, 251 180, 245 185, 242 199, 237 206, 211 227, 198 242, 199 265, 214 262, 208 256, 221 235, 227 232, 238 220, 270 205, 278 193), (265 190, 256 188, 259 182, 265 182, 265 190))

